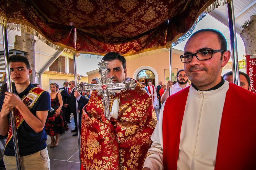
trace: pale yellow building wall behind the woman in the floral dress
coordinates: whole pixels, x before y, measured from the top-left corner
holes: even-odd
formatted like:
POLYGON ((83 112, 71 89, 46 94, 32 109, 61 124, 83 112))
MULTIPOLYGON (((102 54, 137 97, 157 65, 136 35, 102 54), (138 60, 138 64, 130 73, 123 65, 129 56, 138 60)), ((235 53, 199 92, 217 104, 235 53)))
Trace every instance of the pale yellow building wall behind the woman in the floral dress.
MULTIPOLYGON (((49 73, 49 72, 45 72, 44 74, 42 74, 42 82, 43 84, 41 85, 41 88, 48 91, 49 92, 49 79, 60 79, 60 80, 67 80, 72 81, 74 80, 74 75, 72 74, 58 74, 58 73, 49 73)), ((81 77, 81 82, 86 82, 88 83, 88 77, 81 77)), ((78 80, 77 80, 78 82, 78 80)), ((60 87, 63 87, 63 84, 59 84, 60 87)))

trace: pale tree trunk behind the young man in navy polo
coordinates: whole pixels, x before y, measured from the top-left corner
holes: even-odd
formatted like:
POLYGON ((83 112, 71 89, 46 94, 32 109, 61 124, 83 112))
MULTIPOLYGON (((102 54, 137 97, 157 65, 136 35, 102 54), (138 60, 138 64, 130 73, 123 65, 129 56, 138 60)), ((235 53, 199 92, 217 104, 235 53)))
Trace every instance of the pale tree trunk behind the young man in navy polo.
POLYGON ((36 63, 35 63, 35 43, 34 35, 27 32, 21 32, 21 36, 15 35, 14 49, 25 51, 25 57, 28 59, 32 74, 29 77, 30 83, 35 82, 36 78, 36 63))

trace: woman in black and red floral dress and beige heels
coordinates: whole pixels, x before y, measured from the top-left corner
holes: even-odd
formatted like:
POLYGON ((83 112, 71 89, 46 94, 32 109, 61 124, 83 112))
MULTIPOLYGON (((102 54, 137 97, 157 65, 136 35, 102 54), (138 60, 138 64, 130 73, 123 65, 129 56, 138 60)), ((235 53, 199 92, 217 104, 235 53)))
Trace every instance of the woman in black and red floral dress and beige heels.
POLYGON ((50 84, 50 97, 51 97, 51 107, 54 111, 48 112, 48 117, 45 123, 45 132, 47 135, 51 136, 50 148, 59 145, 59 135, 68 130, 67 124, 63 121, 63 113, 61 107, 63 105, 61 94, 56 91, 55 83, 50 84), (56 136, 56 140, 55 137, 56 136))

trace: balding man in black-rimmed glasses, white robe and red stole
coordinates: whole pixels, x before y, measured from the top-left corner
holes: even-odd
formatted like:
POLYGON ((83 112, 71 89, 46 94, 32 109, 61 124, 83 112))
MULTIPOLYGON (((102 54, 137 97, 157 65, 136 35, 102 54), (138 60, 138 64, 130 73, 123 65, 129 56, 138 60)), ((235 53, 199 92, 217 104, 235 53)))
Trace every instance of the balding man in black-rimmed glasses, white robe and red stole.
POLYGON ((199 30, 180 58, 191 86, 163 103, 144 169, 256 169, 256 94, 221 76, 225 37, 199 30))

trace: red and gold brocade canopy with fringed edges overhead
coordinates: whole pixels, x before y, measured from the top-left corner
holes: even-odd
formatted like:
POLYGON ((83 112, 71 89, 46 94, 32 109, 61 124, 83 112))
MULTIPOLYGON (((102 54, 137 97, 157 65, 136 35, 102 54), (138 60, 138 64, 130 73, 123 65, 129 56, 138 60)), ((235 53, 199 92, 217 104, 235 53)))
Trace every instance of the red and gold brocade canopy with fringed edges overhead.
POLYGON ((115 51, 129 56, 185 40, 202 17, 226 3, 227 0, 0 0, 0 25, 33 33, 58 50, 98 55, 115 51))

